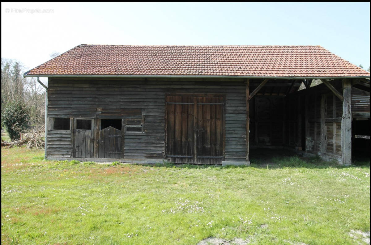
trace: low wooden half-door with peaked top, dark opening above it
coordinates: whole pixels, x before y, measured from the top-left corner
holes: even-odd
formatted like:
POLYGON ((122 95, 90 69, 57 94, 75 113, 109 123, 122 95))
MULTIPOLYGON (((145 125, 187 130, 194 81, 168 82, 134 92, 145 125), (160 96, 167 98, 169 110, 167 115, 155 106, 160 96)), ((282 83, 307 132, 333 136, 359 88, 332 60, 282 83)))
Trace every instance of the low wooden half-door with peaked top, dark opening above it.
POLYGON ((98 158, 122 158, 122 131, 109 126, 99 131, 98 158))

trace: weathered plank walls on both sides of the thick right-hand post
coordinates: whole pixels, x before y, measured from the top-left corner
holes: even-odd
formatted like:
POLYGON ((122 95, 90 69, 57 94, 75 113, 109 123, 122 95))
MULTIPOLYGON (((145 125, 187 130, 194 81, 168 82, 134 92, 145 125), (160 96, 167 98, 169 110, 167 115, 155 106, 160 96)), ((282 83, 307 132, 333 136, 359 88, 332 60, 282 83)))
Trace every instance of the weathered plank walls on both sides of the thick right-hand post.
MULTIPOLYGON (((334 81, 332 85, 343 94, 341 82, 334 81)), ((350 111, 353 117, 370 116, 369 92, 351 87, 351 93, 348 93, 345 99, 351 102, 350 111)), ((341 101, 324 84, 292 93, 285 98, 285 103, 285 145, 295 149, 302 146, 305 152, 350 163, 349 144, 352 133, 349 125, 342 126, 344 105, 348 108, 347 103, 341 101), (305 105, 304 109, 300 109, 302 105, 305 105), (305 137, 305 140, 302 137, 305 137), (347 150, 343 149, 345 141, 347 150)))

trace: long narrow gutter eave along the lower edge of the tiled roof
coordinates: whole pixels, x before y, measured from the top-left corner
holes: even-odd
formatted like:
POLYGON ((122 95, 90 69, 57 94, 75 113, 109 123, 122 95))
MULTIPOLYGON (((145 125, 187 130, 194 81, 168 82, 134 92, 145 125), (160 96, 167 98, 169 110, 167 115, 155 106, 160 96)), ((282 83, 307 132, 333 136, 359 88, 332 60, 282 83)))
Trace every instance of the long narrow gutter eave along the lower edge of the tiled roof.
POLYGON ((163 78, 257 78, 257 79, 345 79, 345 78, 370 78, 370 76, 338 76, 338 77, 318 77, 318 76, 206 76, 206 75, 23 75, 23 77, 90 77, 90 78, 129 78, 129 77, 163 77, 163 78))

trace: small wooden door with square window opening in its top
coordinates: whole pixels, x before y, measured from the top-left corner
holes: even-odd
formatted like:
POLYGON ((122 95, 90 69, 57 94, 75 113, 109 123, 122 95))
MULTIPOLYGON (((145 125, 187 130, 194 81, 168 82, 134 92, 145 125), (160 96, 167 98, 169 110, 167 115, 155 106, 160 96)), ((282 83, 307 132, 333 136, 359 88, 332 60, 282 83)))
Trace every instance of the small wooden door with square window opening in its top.
POLYGON ((73 119, 73 157, 93 157, 93 128, 93 119, 73 119))

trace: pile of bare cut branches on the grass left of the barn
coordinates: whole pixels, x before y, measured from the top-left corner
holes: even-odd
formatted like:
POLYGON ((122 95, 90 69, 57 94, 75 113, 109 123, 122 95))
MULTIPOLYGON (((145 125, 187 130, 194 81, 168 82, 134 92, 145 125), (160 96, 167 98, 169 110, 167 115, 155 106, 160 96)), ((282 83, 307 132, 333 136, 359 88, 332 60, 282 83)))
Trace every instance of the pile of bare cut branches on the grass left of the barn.
POLYGON ((7 142, 1 139, 1 146, 11 148, 13 146, 26 145, 27 148, 44 149, 45 144, 45 126, 34 128, 31 132, 22 133, 21 139, 7 142))

